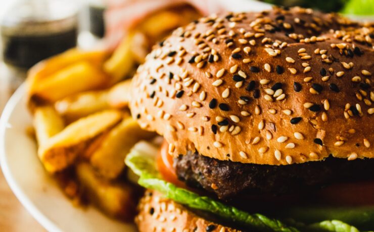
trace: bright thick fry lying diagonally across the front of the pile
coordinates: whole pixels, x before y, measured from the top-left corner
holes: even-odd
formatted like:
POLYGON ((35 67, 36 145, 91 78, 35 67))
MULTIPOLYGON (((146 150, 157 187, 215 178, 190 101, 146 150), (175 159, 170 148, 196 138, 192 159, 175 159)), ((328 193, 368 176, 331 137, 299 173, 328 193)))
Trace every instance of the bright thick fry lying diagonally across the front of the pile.
POLYGON ((38 156, 46 170, 56 172, 71 165, 90 143, 117 125, 122 114, 106 110, 81 118, 39 146, 38 156))

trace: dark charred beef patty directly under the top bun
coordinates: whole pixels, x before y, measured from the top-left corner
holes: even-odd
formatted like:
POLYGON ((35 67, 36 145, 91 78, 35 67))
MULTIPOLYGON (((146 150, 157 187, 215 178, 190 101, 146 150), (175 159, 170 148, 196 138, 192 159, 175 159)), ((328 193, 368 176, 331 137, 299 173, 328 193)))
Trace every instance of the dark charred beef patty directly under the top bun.
POLYGON ((266 165, 218 160, 188 152, 174 159, 178 179, 220 199, 237 194, 274 195, 305 191, 332 183, 374 179, 374 159, 328 157, 301 164, 266 165))

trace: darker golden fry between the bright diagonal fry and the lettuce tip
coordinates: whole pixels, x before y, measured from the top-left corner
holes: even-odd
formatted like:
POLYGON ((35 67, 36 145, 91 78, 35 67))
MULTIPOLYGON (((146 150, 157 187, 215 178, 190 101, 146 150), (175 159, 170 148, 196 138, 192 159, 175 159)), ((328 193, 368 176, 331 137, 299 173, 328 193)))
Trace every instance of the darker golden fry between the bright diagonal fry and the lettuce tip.
POLYGON ((101 146, 92 154, 90 162, 107 179, 114 179, 123 170, 126 154, 135 143, 151 139, 155 134, 142 130, 135 120, 127 118, 113 128, 101 146))

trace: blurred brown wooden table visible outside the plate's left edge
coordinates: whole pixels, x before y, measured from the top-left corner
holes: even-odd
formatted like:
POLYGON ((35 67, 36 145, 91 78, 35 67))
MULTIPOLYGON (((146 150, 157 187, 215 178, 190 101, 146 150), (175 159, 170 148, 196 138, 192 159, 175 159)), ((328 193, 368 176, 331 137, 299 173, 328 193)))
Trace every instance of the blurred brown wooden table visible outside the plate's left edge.
MULTIPOLYGON (((14 79, 0 61, 0 113, 21 78, 14 79)), ((0 170, 0 231, 45 231, 45 229, 21 205, 9 188, 3 172, 0 170)))

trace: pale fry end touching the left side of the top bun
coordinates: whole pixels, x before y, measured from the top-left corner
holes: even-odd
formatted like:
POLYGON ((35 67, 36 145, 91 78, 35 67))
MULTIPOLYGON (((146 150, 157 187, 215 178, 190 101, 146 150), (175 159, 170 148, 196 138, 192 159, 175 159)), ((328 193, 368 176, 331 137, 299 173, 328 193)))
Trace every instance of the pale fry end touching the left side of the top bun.
POLYGON ((131 79, 116 84, 109 90, 108 104, 114 108, 127 107, 131 98, 130 90, 131 79))

